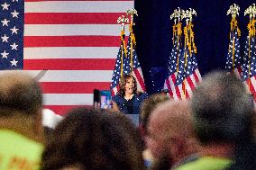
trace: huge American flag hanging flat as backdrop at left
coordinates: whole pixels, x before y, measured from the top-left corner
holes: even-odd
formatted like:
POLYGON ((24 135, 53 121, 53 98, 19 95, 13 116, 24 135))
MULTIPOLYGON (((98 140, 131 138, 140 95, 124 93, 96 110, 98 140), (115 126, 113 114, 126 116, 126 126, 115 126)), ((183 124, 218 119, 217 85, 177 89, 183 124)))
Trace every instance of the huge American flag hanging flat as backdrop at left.
POLYGON ((33 76, 48 69, 40 83, 44 107, 54 112, 92 105, 93 89, 110 87, 120 45, 116 20, 131 7, 130 0, 1 0, 0 67, 33 76))

